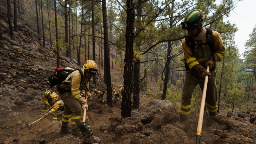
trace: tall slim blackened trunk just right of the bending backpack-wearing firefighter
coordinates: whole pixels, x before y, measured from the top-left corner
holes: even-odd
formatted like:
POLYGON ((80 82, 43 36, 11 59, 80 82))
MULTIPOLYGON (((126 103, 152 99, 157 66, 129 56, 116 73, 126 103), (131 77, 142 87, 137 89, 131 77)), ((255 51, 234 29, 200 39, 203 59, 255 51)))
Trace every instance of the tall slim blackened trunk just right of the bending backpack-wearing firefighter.
POLYGON ((103 32, 104 32, 104 66, 106 70, 106 84, 107 84, 107 104, 112 107, 112 90, 111 90, 111 75, 109 62, 109 47, 108 47, 108 20, 107 20, 107 6, 106 0, 102 0, 102 16, 103 16, 103 32))

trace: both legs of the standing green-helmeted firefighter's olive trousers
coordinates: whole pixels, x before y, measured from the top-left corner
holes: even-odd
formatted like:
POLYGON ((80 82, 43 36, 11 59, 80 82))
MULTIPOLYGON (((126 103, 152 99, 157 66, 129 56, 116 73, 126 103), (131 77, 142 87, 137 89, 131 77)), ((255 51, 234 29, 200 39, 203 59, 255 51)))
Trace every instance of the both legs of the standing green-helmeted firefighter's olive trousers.
MULTIPOLYGON (((216 71, 211 70, 211 79, 208 79, 205 105, 210 114, 217 113, 217 85, 216 85, 216 71)), ((180 117, 187 118, 190 114, 191 98, 196 85, 199 84, 203 92, 204 78, 201 74, 197 73, 194 69, 186 71, 185 80, 183 84, 183 95, 180 108, 180 117)))

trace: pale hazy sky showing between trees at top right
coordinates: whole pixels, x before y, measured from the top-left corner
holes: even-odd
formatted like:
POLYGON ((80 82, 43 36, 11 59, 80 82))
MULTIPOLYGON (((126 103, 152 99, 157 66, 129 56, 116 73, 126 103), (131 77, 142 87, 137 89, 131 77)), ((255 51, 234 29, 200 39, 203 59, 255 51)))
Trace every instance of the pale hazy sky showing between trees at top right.
MULTIPOLYGON (((222 0, 216 0, 219 4, 222 0)), ((238 1, 236 0, 235 3, 238 1)), ((238 31, 235 34, 235 43, 239 48, 240 58, 243 58, 245 41, 249 40, 249 35, 256 26, 256 0, 243 0, 238 2, 237 7, 230 13, 225 21, 235 23, 238 31)))

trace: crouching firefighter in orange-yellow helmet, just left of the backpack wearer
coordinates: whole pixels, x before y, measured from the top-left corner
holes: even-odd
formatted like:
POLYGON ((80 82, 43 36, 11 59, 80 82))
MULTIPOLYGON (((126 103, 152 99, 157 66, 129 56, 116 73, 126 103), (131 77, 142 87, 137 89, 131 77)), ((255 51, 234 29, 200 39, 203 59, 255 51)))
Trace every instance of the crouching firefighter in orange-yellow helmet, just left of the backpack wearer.
POLYGON ((41 118, 44 119, 47 116, 52 115, 52 121, 57 122, 58 117, 61 117, 63 114, 64 103, 55 92, 50 94, 50 96, 46 96, 46 98, 51 103, 54 103, 54 105, 53 105, 53 108, 48 113, 46 113, 44 116, 42 116, 41 118), (58 110, 60 110, 60 111, 57 112, 58 110), (57 112, 57 113, 55 113, 55 112, 57 112))

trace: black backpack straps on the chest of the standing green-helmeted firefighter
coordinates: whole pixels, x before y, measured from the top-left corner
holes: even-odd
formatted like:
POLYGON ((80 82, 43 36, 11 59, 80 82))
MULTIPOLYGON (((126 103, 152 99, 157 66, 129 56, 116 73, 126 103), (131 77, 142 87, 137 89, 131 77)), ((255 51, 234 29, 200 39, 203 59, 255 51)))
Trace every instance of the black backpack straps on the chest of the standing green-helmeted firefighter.
MULTIPOLYGON (((213 42, 212 42, 212 29, 210 29, 210 28, 205 28, 205 29, 206 29, 206 43, 195 44, 195 40, 192 37, 190 37, 189 35, 187 35, 185 37, 186 45, 189 45, 189 48, 191 49, 192 52, 194 52, 194 48, 196 45, 208 45, 212 51, 212 60, 215 61, 213 42)), ((203 66, 203 67, 205 67, 205 66, 203 66)), ((190 69, 188 67, 186 60, 185 60, 185 68, 186 68, 186 71, 190 69)), ((215 69, 216 69, 216 63, 212 67, 212 70, 215 70, 215 69)))

